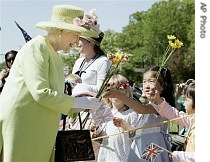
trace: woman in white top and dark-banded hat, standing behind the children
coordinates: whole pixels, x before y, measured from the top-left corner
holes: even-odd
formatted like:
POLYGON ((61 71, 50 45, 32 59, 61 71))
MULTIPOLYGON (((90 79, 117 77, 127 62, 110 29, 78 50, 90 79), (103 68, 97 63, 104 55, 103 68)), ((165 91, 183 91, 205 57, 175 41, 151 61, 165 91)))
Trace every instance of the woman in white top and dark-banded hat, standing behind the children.
POLYGON ((110 67, 110 62, 100 46, 104 33, 99 29, 97 15, 94 10, 91 10, 86 13, 86 17, 95 24, 99 37, 80 36, 78 43, 80 58, 76 60, 72 73, 79 75, 83 83, 98 92, 110 67))

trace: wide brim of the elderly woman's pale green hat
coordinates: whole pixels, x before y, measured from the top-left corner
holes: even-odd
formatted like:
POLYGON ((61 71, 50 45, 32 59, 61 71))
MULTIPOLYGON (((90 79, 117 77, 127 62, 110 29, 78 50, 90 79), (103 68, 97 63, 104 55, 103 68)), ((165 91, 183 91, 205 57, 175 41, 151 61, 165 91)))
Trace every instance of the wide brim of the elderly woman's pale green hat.
POLYGON ((49 28, 58 28, 68 31, 76 31, 81 33, 81 36, 98 38, 98 33, 94 30, 88 30, 78 25, 68 24, 63 22, 43 21, 37 23, 36 27, 43 30, 48 30, 49 28))

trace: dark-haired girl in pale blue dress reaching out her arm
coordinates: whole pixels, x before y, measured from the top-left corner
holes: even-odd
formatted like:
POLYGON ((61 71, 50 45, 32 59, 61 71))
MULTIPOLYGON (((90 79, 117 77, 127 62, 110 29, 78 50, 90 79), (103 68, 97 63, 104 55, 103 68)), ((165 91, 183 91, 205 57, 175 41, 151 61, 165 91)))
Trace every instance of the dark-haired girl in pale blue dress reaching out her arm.
MULTIPOLYGON (((164 97, 166 102, 174 106, 174 87, 171 79, 171 74, 169 69, 153 66, 145 70, 143 74, 143 91, 146 97, 149 100, 148 105, 143 105, 138 101, 135 101, 122 93, 119 93, 117 90, 110 90, 103 94, 103 98, 118 98, 125 105, 132 108, 134 111, 138 112, 138 122, 135 127, 145 127, 154 123, 160 123, 167 120, 165 117, 160 116, 154 109, 157 107, 152 92, 152 87, 156 87, 160 91, 160 96, 164 97), (159 77, 156 80, 156 77, 159 72, 159 77)), ((114 125, 117 127, 122 127, 124 130, 134 129, 134 126, 131 126, 125 120, 120 117, 114 118, 114 125)), ((131 150, 128 155, 128 162, 133 161, 142 161, 145 160, 141 157, 144 149, 151 143, 155 143, 167 150, 170 150, 170 141, 167 134, 168 124, 161 124, 154 127, 137 130, 136 132, 130 133, 130 136, 133 136, 133 142, 131 145, 131 150)), ((171 159, 168 156, 167 152, 160 153, 154 160, 154 162, 170 162, 171 159)))

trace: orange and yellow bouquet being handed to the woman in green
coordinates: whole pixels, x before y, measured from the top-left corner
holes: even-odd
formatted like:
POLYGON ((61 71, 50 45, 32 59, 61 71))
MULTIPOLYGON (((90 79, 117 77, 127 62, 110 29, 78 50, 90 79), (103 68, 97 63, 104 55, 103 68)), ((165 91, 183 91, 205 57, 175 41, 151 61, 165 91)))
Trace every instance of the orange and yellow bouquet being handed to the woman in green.
POLYGON ((108 87, 109 79, 117 72, 119 65, 128 61, 128 54, 121 51, 118 51, 117 53, 109 52, 108 58, 111 61, 111 65, 109 70, 107 71, 102 86, 99 89, 98 94, 96 95, 97 98, 100 97, 101 94, 106 90, 106 88, 108 87))

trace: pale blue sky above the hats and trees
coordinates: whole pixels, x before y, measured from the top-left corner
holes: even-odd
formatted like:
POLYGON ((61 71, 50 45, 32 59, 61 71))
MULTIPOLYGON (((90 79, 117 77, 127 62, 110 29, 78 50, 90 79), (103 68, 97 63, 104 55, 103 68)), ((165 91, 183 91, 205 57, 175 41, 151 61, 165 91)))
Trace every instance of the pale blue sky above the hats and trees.
MULTIPOLYGON (((66 1, 30 1, 0 0, 1 31, 0 53, 11 49, 19 50, 25 40, 14 21, 31 36, 43 35, 46 32, 35 27, 40 21, 50 20, 52 6, 72 4, 86 11, 96 9, 101 30, 112 29, 120 32, 129 21, 129 15, 136 11, 146 11, 158 0, 66 0, 66 1)), ((2 57, 0 57, 1 61, 2 57)))

